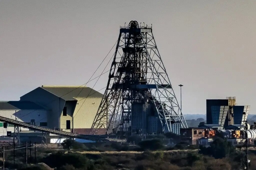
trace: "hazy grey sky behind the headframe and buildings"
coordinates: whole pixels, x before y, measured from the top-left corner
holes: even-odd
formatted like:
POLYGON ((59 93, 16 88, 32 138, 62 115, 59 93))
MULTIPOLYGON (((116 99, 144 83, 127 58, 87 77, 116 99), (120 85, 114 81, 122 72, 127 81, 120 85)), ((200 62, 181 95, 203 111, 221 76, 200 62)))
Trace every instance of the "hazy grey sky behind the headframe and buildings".
POLYGON ((86 83, 130 20, 153 24, 178 101, 184 85, 184 114, 227 96, 256 114, 255 0, 0 0, 0 100, 86 83))

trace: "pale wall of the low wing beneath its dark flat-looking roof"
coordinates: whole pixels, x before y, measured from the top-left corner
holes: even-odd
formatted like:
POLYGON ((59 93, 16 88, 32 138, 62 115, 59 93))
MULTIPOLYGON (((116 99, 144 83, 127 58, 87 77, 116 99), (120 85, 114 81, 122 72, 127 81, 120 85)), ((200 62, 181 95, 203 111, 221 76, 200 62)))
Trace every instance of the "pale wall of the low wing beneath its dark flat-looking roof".
MULTIPOLYGON (((31 119, 35 119, 35 125, 40 125, 40 122, 47 122, 47 110, 0 110, 0 116, 7 117, 9 119, 22 121, 29 123, 31 119), (16 112, 16 113, 15 113, 16 112), (15 118, 16 116, 16 118, 15 118)), ((22 128, 21 130, 29 130, 28 128, 22 128)), ((14 132, 14 126, 9 125, 9 127, 0 127, 0 136, 6 135, 6 131, 14 132)))

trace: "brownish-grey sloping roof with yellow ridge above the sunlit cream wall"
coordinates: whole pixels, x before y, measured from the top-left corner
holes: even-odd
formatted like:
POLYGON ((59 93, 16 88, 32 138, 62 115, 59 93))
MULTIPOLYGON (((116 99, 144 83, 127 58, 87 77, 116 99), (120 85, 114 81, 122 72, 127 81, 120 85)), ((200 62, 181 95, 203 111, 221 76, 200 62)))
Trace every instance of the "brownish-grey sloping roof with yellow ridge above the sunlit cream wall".
POLYGON ((103 97, 98 91, 90 87, 84 86, 44 86, 42 85, 42 89, 49 91, 50 93, 66 100, 76 100, 74 97, 103 97))

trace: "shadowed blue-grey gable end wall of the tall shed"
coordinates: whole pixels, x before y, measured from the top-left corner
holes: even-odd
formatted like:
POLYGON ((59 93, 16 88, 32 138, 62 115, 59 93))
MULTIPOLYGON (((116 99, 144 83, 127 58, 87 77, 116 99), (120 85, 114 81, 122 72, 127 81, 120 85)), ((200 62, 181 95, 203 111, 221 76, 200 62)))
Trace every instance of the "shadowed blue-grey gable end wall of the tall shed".
POLYGON ((60 115, 62 114, 65 100, 42 89, 41 87, 38 87, 20 97, 20 100, 32 101, 50 110, 50 112, 48 112, 48 127, 60 128, 60 115))

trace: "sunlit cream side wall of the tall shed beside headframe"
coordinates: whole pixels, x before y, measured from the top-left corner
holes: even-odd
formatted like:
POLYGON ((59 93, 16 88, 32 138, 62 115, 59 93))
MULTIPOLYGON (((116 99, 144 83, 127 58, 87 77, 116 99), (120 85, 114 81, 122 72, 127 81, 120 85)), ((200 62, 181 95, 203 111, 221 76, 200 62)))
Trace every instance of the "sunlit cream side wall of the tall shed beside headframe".
POLYGON ((74 128, 91 128, 102 98, 77 97, 75 99, 78 100, 78 104, 76 105, 76 109, 74 111, 74 128))

